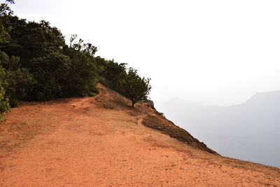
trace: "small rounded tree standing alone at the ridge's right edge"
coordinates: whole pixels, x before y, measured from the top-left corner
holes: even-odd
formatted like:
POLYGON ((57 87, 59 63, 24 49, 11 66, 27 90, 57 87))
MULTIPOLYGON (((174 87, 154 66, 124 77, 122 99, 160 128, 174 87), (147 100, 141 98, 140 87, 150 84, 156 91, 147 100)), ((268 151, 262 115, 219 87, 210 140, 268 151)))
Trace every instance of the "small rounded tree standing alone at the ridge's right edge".
POLYGON ((123 84, 123 95, 132 101, 133 107, 135 103, 147 99, 151 91, 150 81, 151 78, 141 78, 136 69, 128 70, 123 84))

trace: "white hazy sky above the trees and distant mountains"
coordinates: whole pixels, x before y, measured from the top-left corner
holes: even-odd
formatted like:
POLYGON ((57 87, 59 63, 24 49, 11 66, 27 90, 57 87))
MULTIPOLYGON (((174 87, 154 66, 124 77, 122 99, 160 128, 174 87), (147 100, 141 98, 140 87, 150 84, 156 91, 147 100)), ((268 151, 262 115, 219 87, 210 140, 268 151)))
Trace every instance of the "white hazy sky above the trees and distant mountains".
POLYGON ((11 8, 152 78, 154 101, 227 106, 280 90, 278 0, 15 0, 11 8))

